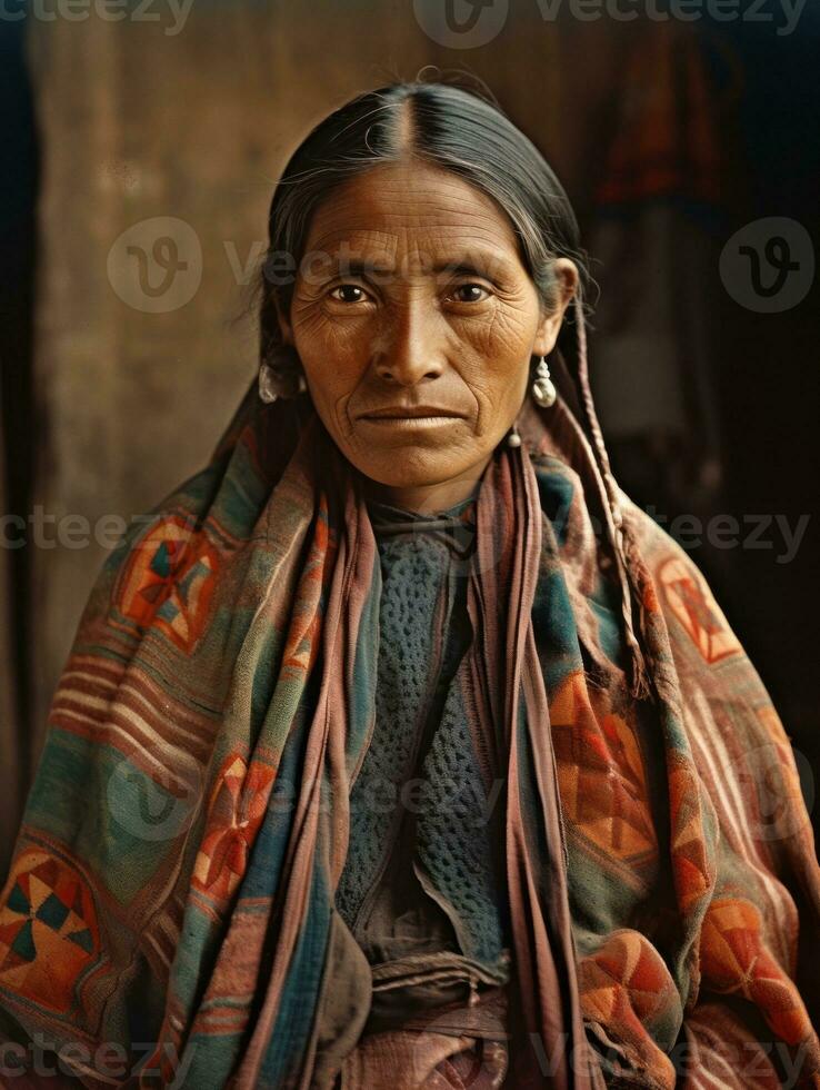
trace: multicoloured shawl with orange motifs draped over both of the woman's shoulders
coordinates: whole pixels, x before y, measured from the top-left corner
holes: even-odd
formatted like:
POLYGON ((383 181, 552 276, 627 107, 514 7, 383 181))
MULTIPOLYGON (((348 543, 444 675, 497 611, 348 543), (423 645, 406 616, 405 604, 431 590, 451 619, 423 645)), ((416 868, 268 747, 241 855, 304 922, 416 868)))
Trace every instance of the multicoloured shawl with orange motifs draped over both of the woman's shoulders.
MULTIPOLYGON (((820 879, 787 735, 563 400, 521 433, 482 477, 468 589, 532 1046, 511 1084, 820 1087, 798 983, 820 879)), ((378 611, 360 477, 307 398, 251 388, 82 616, 0 896, 9 1084, 38 1039, 88 1087, 311 1086, 317 1011, 349 983, 333 890, 378 611)))

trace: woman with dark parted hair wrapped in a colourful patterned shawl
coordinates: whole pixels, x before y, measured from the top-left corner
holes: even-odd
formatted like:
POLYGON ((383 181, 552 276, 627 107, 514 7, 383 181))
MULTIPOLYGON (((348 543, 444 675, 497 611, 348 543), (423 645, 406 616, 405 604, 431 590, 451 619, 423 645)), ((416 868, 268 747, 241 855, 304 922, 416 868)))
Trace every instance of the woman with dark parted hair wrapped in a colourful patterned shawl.
POLYGON ((463 90, 296 151, 259 385, 54 698, 7 1072, 39 1033, 89 1087, 820 1086, 794 761, 612 479, 586 279, 556 177, 463 90))

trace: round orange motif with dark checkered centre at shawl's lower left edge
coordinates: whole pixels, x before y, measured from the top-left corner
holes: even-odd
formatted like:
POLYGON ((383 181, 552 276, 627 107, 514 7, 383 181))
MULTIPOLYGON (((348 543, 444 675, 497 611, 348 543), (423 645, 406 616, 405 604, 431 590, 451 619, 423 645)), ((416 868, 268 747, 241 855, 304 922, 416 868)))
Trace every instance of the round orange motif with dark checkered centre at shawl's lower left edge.
POLYGON ((64 1013, 99 949, 93 896, 79 872, 39 849, 22 852, 0 898, 0 985, 64 1013))

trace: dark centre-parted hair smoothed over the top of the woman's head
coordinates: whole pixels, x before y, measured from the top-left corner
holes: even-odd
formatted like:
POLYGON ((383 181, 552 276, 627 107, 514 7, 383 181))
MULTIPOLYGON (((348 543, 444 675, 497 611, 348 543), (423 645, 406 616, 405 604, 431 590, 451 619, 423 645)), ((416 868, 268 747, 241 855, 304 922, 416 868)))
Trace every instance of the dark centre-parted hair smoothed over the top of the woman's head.
POLYGON ((288 314, 293 291, 294 275, 280 277, 276 270, 283 259, 291 270, 298 267, 318 207, 350 178, 408 156, 459 175, 507 212, 548 309, 557 303, 557 257, 574 261, 582 296, 589 270, 576 216, 534 145, 498 107, 472 91, 448 83, 396 83, 330 113, 284 168, 271 201, 269 248, 256 286, 261 293, 261 361, 272 361, 281 347, 277 303, 288 314))

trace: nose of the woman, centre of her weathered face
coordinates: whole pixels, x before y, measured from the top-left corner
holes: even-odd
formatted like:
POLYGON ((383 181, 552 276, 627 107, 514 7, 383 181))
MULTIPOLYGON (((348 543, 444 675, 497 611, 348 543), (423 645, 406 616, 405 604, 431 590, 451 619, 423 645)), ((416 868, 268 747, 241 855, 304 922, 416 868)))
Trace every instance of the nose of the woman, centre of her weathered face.
POLYGON ((380 378, 414 386, 438 378, 444 358, 439 316, 427 300, 416 299, 391 310, 374 351, 380 378))

